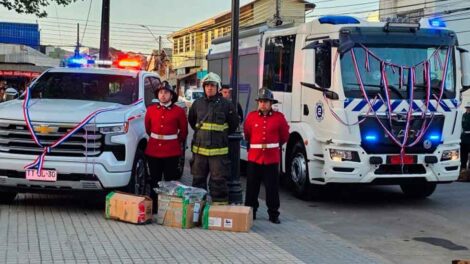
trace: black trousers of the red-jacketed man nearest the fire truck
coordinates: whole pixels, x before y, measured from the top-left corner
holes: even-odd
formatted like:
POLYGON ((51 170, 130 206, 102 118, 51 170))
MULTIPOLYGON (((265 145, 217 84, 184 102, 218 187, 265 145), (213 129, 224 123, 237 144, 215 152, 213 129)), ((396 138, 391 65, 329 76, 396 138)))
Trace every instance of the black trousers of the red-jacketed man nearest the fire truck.
POLYGON ((253 208, 256 213, 259 207, 258 195, 264 183, 266 190, 266 206, 269 217, 279 216, 279 164, 261 165, 248 162, 246 175, 245 205, 253 208))

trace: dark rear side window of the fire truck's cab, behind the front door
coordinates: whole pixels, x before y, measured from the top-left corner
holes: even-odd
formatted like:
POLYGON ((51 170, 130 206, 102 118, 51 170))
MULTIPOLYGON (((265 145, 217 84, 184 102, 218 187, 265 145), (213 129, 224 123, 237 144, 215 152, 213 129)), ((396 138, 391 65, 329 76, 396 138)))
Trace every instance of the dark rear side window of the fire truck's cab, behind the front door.
POLYGON ((292 92, 295 35, 269 38, 264 53, 263 86, 279 92, 292 92))

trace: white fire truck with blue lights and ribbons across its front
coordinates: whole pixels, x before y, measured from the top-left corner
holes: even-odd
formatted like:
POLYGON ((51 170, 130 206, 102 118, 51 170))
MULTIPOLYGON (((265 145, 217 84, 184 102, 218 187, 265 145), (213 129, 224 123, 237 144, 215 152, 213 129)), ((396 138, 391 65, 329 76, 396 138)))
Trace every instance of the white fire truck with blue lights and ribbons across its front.
MULTIPOLYGON (((229 57, 230 39, 215 39, 208 68, 224 83, 229 57)), ((387 184, 424 198, 458 178, 469 59, 441 19, 252 28, 240 32, 239 62, 244 113, 266 87, 289 122, 281 171, 299 197, 318 185, 387 184)))

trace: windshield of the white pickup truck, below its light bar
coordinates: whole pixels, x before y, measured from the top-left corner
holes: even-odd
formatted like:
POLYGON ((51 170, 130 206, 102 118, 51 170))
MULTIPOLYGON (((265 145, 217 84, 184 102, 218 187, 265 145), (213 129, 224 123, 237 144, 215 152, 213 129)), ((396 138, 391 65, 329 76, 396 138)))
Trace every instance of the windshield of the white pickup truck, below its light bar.
POLYGON ((138 99, 137 79, 94 73, 47 72, 31 87, 32 98, 100 101, 129 105, 138 99))

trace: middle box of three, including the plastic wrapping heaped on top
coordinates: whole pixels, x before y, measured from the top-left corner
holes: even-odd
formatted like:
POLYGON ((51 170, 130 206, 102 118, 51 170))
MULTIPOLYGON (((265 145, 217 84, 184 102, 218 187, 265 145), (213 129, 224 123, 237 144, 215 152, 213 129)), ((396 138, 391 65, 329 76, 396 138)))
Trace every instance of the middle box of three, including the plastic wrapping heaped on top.
POLYGON ((158 184, 157 223, 183 229, 199 225, 206 191, 177 181, 158 184))

